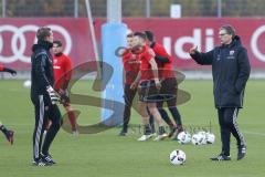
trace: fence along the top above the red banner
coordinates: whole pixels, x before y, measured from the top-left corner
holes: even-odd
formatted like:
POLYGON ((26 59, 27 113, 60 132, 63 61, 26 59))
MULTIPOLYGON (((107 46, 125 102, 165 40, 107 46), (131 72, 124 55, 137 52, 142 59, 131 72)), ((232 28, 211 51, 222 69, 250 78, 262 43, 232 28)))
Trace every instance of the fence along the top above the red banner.
MULTIPOLYGON (((106 17, 107 0, 89 0, 93 17, 106 17)), ((265 17, 264 0, 121 0, 123 17, 170 17, 171 4, 181 17, 265 17)), ((85 0, 0 0, 2 18, 86 17, 85 0)))

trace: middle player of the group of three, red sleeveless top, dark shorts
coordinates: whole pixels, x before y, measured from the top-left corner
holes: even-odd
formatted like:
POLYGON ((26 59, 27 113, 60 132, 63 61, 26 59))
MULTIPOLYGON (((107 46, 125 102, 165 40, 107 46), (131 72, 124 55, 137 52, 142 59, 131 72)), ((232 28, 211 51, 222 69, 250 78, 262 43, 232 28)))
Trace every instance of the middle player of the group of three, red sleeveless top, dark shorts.
POLYGON ((134 39, 138 51, 140 51, 138 58, 141 63, 140 72, 138 73, 137 79, 131 84, 131 88, 136 88, 136 86, 138 85, 139 111, 141 114, 142 123, 145 125, 144 135, 138 138, 138 140, 147 140, 153 135, 151 133, 151 127, 149 124, 149 115, 147 112, 147 107, 159 127, 158 136, 155 138, 155 140, 162 140, 168 135, 165 132, 161 115, 158 112, 156 103, 161 84, 158 79, 158 67, 155 61, 155 53, 146 44, 146 34, 141 32, 136 32, 134 39))

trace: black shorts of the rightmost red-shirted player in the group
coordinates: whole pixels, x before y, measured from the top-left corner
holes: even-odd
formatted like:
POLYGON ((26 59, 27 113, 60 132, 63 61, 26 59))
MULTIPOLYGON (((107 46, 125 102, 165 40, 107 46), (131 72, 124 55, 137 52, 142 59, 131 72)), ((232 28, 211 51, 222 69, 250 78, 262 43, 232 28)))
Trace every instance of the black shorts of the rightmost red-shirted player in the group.
POLYGON ((176 77, 168 77, 161 82, 161 90, 159 92, 160 101, 157 103, 158 107, 162 107, 167 102, 168 107, 177 105, 178 83, 176 77))

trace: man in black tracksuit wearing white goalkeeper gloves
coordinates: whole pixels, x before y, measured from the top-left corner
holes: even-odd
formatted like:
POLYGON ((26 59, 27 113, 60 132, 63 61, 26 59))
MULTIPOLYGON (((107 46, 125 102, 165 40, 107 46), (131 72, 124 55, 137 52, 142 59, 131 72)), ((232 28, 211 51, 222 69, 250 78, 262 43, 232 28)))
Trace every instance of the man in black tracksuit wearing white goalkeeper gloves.
POLYGON ((50 53, 53 46, 52 30, 40 28, 36 38, 38 44, 32 46, 31 55, 31 101, 35 112, 33 165, 49 166, 55 164, 49 154, 49 148, 61 126, 61 113, 56 105, 59 96, 52 87, 54 85, 53 58, 50 53), (49 118, 52 121, 52 126, 42 145, 42 136, 49 118))

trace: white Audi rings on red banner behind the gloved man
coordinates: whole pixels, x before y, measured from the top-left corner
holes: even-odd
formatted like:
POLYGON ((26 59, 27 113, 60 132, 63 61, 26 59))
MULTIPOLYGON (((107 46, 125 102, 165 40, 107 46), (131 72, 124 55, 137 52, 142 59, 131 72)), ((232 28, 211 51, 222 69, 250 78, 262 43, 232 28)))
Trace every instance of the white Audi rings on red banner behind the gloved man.
MULTIPOLYGON (((64 53, 70 54, 72 49, 72 39, 70 37, 70 33, 61 25, 50 24, 46 27, 51 28, 53 32, 62 34, 62 37, 65 40, 64 53)), ((22 61, 24 63, 30 63, 31 62, 30 55, 25 55, 26 46, 28 45, 31 46, 33 43, 35 43, 36 38, 34 38, 34 41, 26 41, 25 32, 33 32, 35 35, 35 32, 38 31, 39 28, 40 27, 34 24, 26 24, 20 28, 10 24, 0 25, 0 62, 12 63, 15 61, 22 61), (7 56, 2 55, 4 44, 2 38, 3 32, 11 32, 11 46, 6 48, 10 48, 12 54, 7 56)))

